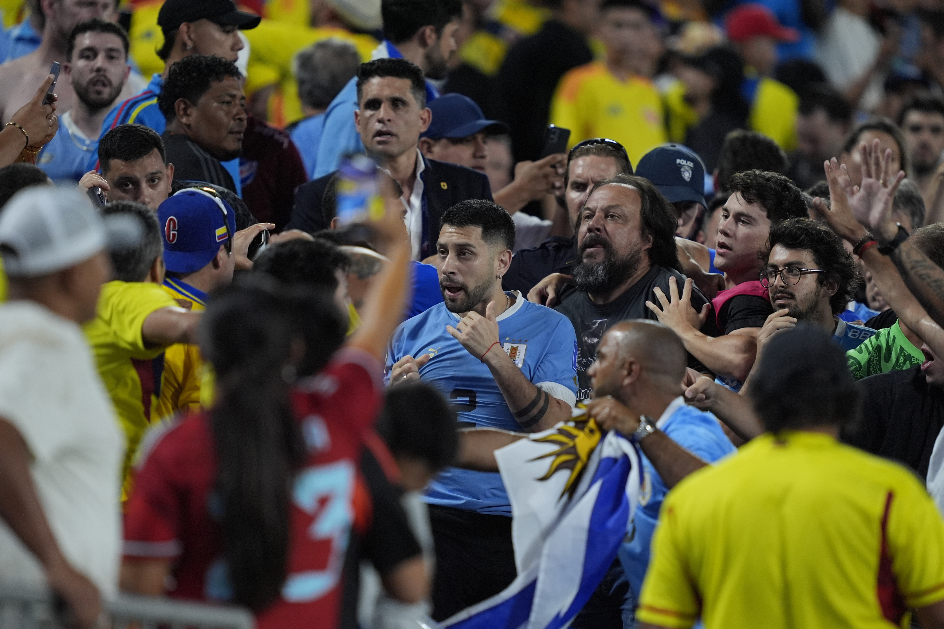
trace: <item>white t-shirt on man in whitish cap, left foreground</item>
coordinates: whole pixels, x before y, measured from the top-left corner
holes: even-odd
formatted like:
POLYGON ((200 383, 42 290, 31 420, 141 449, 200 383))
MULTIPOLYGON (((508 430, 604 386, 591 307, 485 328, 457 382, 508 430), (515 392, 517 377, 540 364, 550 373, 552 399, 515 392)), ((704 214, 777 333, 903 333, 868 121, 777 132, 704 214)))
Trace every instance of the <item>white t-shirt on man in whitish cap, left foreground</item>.
MULTIPOLYGON (((0 417, 23 435, 59 548, 104 596, 118 589, 124 442, 78 325, 32 301, 0 305, 0 417)), ((0 581, 45 583, 0 519, 0 581)))

